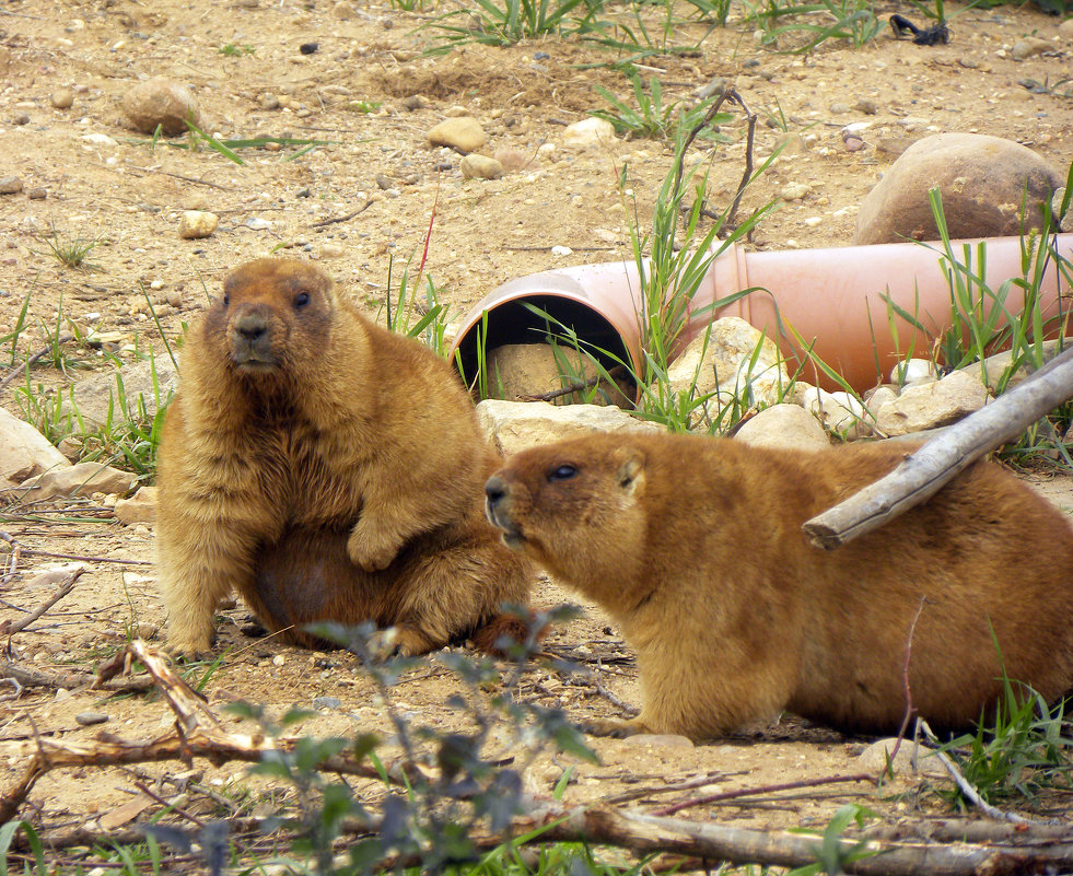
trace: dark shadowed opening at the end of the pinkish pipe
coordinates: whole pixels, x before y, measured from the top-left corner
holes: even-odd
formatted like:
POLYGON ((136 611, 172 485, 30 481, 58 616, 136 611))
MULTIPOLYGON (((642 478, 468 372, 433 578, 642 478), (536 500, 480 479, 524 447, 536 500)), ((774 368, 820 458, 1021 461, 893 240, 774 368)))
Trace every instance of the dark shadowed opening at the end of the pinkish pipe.
MULTIPOLYGON (((488 337, 485 340, 485 354, 508 343, 547 343, 549 334, 561 340, 569 337, 563 329, 572 329, 581 341, 582 350, 591 354, 605 369, 633 361, 622 336, 600 314, 586 304, 559 295, 526 295, 523 299, 505 301, 488 311, 488 337), (530 305, 547 314, 545 318, 534 313, 530 305)), ((482 320, 478 319, 458 340, 455 367, 462 370, 467 384, 477 377, 477 348, 482 320), (459 362, 460 360, 460 362, 459 362)), ((630 377, 630 375, 626 375, 630 377)))

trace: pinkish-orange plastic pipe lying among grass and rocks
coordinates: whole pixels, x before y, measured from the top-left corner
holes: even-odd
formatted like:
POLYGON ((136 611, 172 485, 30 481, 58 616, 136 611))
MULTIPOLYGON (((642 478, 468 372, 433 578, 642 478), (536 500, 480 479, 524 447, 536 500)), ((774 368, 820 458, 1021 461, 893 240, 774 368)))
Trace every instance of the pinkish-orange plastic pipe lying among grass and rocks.
MULTIPOLYGON (((1073 234, 1055 235, 1052 241, 1062 257, 1073 260, 1073 234)), ((979 271, 979 242, 957 241, 953 248, 963 261, 963 244, 972 246, 975 272, 979 271)), ((990 289, 998 290, 1005 280, 1023 276, 1019 237, 989 237, 984 242, 984 279, 990 289)), ((899 243, 750 253, 731 244, 714 259, 693 296, 685 340, 713 319, 740 316, 766 331, 789 360, 800 361, 801 344, 789 330, 779 330, 778 307, 783 326, 792 325, 805 343, 815 341, 815 355, 839 372, 850 386, 863 392, 886 379, 907 350, 929 355, 932 338, 950 326, 950 293, 941 250, 937 243, 899 243), (709 306, 754 288, 756 291, 732 304, 714 309, 709 306), (908 323, 898 319, 900 349, 895 349, 884 295, 915 314, 926 334, 914 332, 908 323)), ((1040 294, 1045 317, 1069 312, 1070 284, 1053 261, 1048 265, 1040 294)), ((633 261, 618 261, 543 271, 511 280, 492 291, 467 314, 452 349, 452 353, 460 351, 467 377, 471 379, 476 372, 478 330, 486 313, 488 350, 503 343, 544 339, 545 323, 524 306, 526 303, 573 326, 578 336, 594 347, 628 358, 639 367, 638 269, 633 261)), ((1024 294, 1016 285, 1012 285, 1005 306, 1010 311, 1023 308, 1024 294)), ((1058 334, 1057 326, 1053 334, 1058 334)), ((806 366, 802 377, 826 388, 839 388, 810 366, 806 366)))

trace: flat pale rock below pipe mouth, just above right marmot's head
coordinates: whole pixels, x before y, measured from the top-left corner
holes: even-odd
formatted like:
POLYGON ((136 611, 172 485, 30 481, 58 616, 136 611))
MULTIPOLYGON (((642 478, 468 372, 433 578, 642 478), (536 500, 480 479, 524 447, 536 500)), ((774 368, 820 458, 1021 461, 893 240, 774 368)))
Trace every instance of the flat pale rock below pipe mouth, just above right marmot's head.
POLYGON ((547 401, 498 401, 477 406, 477 421, 504 456, 593 432, 660 431, 660 427, 630 417, 614 405, 565 405, 547 401))

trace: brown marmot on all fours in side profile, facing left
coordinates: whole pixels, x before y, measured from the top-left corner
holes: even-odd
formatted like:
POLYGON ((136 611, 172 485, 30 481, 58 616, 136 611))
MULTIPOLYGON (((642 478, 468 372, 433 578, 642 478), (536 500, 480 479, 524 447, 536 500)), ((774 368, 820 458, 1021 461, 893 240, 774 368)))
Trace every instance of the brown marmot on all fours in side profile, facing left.
POLYGON ((638 653, 640 715, 594 732, 704 739, 783 709, 891 732, 918 611, 908 684, 934 728, 980 719, 1003 669, 1057 699, 1073 687, 1073 528, 1000 466, 971 466, 836 551, 808 544, 806 519, 905 454, 593 435, 512 457, 486 509, 638 653))

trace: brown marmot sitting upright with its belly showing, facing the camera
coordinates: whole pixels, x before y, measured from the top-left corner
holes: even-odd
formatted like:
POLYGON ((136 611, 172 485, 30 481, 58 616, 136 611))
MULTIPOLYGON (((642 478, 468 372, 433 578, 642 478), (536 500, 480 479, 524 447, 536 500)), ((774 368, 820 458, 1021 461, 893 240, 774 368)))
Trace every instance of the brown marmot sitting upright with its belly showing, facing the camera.
POLYGON ((395 624, 420 654, 524 604, 534 570, 485 519, 500 457, 446 362, 362 317, 316 266, 235 269, 190 328, 159 453, 173 651, 238 591, 271 630, 395 624))

